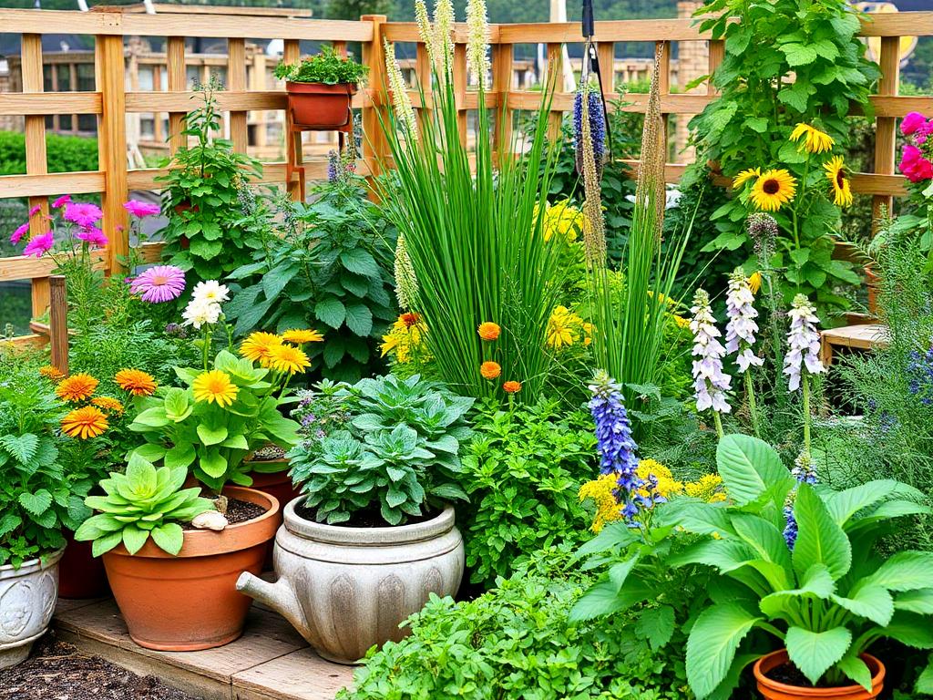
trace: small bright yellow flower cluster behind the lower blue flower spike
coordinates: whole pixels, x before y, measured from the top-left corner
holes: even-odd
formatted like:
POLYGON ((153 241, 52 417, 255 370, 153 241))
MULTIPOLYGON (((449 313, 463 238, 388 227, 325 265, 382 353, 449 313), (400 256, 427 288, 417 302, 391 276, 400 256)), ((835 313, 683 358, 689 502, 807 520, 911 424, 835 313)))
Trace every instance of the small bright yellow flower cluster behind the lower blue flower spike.
MULTIPOLYGON (((716 503, 726 499, 722 488, 722 478, 718 474, 706 474, 695 482, 681 482, 674 478, 671 470, 654 459, 643 459, 638 463, 638 477, 647 482, 652 476, 657 480, 654 495, 665 498, 675 496, 689 496, 700 498, 707 503, 716 503)), ((580 502, 590 498, 596 506, 591 529, 599 532, 609 523, 622 519, 619 501, 613 493, 616 489, 616 476, 604 474, 592 482, 580 486, 578 497, 580 502)), ((642 496, 649 496, 648 490, 641 491, 642 496)))

